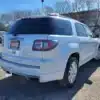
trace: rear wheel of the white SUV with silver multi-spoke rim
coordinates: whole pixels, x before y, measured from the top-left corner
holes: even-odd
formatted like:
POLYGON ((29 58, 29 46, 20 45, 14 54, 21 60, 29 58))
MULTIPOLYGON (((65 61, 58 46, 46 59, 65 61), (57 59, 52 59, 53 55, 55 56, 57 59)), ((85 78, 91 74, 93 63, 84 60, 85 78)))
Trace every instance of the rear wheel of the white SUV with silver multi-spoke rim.
POLYGON ((67 63, 66 69, 65 69, 65 73, 64 73, 64 77, 62 80, 59 81, 60 86, 61 87, 69 87, 69 88, 73 87, 76 82, 76 79, 77 79, 78 69, 79 69, 78 59, 76 57, 71 57, 68 60, 68 63, 67 63))

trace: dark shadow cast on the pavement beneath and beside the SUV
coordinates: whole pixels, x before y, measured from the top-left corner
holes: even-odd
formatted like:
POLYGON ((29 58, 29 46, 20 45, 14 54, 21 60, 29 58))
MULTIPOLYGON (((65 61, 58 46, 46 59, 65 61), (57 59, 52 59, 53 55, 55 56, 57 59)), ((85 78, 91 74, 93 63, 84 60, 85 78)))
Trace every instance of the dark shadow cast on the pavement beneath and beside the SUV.
POLYGON ((99 66, 99 61, 90 61, 82 66, 72 89, 60 88, 55 82, 40 84, 37 80, 23 77, 5 78, 0 81, 0 100, 72 100, 84 83, 92 84, 89 77, 99 66))

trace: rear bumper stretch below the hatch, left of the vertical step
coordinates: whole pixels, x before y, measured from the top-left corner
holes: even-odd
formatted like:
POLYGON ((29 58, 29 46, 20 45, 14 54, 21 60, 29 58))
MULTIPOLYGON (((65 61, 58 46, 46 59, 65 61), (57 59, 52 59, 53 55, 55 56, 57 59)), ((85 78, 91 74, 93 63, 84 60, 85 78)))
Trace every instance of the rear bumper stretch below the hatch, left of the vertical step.
POLYGON ((40 77, 40 66, 30 66, 24 64, 18 64, 11 61, 0 58, 0 66, 4 71, 10 73, 27 76, 27 77, 40 77))

